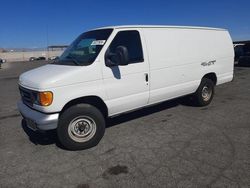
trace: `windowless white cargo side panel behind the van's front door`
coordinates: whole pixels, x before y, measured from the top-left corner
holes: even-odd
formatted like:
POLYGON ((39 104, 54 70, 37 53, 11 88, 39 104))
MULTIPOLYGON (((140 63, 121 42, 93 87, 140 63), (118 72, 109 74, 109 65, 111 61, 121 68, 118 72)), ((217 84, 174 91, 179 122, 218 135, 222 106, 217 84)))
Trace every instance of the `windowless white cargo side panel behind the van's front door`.
POLYGON ((149 103, 195 92, 207 73, 216 73, 218 83, 220 74, 232 75, 232 42, 227 31, 144 28, 144 34, 151 71, 149 103), (214 65, 201 65, 213 60, 214 65))

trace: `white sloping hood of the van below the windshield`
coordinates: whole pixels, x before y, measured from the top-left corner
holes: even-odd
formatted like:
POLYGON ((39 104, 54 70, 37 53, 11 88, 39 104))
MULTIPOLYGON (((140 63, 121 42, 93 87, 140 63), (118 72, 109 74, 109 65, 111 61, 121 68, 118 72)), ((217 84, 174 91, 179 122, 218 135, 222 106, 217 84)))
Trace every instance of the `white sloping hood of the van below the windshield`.
POLYGON ((34 90, 46 90, 100 79, 101 74, 96 69, 90 70, 92 67, 48 64, 21 74, 19 84, 34 90))

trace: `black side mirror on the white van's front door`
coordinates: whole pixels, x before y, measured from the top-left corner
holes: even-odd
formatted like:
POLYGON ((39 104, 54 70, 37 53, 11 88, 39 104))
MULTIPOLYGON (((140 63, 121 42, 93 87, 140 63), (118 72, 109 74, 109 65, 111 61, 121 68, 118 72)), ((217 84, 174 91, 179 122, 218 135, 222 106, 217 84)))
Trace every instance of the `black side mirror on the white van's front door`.
POLYGON ((128 65, 128 50, 125 46, 118 46, 115 53, 109 50, 105 54, 105 64, 108 67, 128 65))

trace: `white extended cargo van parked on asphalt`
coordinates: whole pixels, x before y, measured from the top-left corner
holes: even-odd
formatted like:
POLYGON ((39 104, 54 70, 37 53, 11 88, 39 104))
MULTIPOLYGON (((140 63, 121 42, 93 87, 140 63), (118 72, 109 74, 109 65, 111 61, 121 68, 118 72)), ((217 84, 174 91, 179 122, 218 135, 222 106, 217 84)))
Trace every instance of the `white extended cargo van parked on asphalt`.
POLYGON ((105 118, 192 95, 208 105, 233 79, 227 30, 113 26, 81 34, 53 63, 20 76, 19 110, 33 130, 57 129, 68 149, 98 144, 105 118))

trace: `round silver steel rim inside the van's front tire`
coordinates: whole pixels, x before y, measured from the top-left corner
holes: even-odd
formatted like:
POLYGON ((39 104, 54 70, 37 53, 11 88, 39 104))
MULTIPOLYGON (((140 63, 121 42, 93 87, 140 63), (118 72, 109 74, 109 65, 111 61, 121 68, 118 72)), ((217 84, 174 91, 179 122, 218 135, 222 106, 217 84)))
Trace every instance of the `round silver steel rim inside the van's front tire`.
POLYGON ((79 116, 73 119, 68 127, 71 139, 76 142, 86 142, 96 133, 96 123, 88 116, 79 116))

